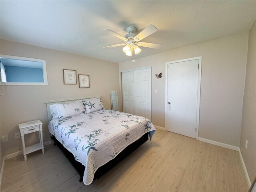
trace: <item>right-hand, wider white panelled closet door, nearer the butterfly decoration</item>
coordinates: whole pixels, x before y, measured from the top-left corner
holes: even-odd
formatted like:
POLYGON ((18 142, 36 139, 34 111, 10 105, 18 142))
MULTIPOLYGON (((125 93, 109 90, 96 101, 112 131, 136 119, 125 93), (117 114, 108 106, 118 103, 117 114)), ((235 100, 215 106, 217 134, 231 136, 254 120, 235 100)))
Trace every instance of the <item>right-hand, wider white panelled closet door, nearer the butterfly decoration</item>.
POLYGON ((134 70, 134 114, 152 119, 151 68, 134 70))

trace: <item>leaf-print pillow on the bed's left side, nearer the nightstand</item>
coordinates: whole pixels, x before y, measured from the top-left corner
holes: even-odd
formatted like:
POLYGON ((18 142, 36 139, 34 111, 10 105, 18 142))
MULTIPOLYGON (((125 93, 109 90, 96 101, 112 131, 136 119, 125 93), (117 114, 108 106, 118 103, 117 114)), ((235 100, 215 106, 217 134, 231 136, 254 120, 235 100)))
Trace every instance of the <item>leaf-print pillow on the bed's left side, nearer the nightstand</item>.
POLYGON ((86 114, 82 101, 55 104, 60 119, 86 114))

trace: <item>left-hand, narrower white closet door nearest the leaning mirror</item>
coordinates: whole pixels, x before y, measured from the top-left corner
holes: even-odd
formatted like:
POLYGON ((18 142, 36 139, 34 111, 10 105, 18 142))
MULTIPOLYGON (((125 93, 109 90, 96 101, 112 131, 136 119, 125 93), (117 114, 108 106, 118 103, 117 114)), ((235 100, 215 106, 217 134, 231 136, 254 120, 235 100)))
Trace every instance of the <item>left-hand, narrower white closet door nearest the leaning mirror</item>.
POLYGON ((134 114, 134 74, 122 72, 123 112, 134 114))

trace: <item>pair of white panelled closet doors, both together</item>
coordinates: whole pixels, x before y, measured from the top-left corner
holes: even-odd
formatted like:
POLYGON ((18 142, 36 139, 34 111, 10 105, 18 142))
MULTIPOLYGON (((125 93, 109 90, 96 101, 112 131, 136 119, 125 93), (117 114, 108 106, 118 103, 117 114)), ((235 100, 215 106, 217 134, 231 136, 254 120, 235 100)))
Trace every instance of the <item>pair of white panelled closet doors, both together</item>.
POLYGON ((122 72, 123 112, 152 120, 151 68, 122 72))

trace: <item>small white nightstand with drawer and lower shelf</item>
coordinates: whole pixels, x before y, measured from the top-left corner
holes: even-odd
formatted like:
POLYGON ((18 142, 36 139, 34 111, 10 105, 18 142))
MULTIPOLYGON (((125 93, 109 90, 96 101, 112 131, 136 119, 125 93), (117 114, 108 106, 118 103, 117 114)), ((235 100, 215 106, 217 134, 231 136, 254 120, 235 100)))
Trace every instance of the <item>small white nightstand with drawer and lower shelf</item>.
POLYGON ((19 129, 20 129, 20 136, 21 136, 21 140, 22 140, 24 160, 25 161, 27 160, 27 154, 32 153, 37 150, 40 150, 40 149, 42 149, 42 152, 44 154, 42 122, 40 120, 36 120, 35 122, 32 122, 32 124, 22 123, 22 124, 19 124, 19 129), (33 132, 37 132, 37 131, 39 134, 40 143, 26 147, 24 135, 33 133, 33 132))

